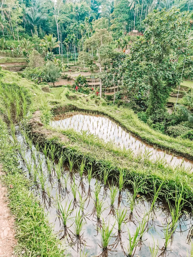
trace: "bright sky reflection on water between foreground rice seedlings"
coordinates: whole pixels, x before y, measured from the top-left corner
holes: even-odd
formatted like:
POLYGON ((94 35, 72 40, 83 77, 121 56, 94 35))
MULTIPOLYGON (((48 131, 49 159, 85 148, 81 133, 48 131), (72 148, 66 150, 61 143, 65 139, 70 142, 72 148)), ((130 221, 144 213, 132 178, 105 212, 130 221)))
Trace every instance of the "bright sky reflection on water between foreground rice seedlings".
MULTIPOLYGON (((22 137, 18 136, 18 139, 20 140, 21 144, 23 143, 23 139, 22 137)), ((31 160, 31 151, 29 149, 26 148, 26 145, 23 148, 23 150, 25 151, 25 159, 27 162, 29 162, 29 160, 31 160)), ((52 172, 53 175, 53 181, 50 183, 48 180, 48 170, 46 167, 46 160, 45 157, 42 153, 37 152, 36 149, 34 148, 34 146, 32 147, 32 152, 36 155, 36 162, 38 164, 39 161, 42 161, 42 171, 44 176, 46 176, 46 182, 45 182, 45 188, 46 188, 46 198, 45 200, 42 199, 42 191, 41 191, 41 186, 39 187, 39 189, 37 188, 33 188, 34 193, 39 196, 40 201, 42 206, 44 206, 45 210, 48 211, 49 214, 49 220, 51 223, 54 224, 54 229, 55 232, 58 234, 59 238, 61 238, 63 236, 63 228, 62 225, 60 224, 59 218, 57 216, 56 213, 56 207, 55 207, 55 202, 54 200, 56 200, 56 195, 59 196, 59 191, 58 191, 58 180, 57 178, 54 177, 54 172, 52 172), (37 154, 39 155, 39 160, 37 158, 37 154), (51 194, 51 206, 48 206, 48 195, 47 195, 47 190, 48 188, 50 189, 50 194, 51 194)), ((34 161, 32 161, 32 166, 34 165, 34 161)), ((23 170, 27 173, 27 176, 29 177, 29 173, 27 168, 24 166, 23 162, 20 162, 20 168, 23 168, 23 170)), ((33 170, 33 169, 32 169, 33 170)), ((40 171, 39 171, 40 173, 40 171)), ((68 173, 68 168, 65 165, 64 166, 64 178, 66 176, 66 174, 68 173)), ((75 174, 75 182, 76 185, 80 184, 80 177, 78 175, 78 173, 74 173, 75 174)), ((85 187, 85 193, 82 191, 81 187, 78 188, 80 194, 82 194, 82 197, 84 199, 86 199, 87 197, 87 192, 89 189, 89 184, 87 182, 87 179, 85 177, 86 174, 84 174, 84 178, 83 178, 83 183, 84 183, 84 187, 85 187)), ((40 181, 38 181, 40 182, 40 181)), ((98 233, 97 235, 97 231, 96 231, 96 215, 91 215, 92 213, 92 209, 94 206, 94 190, 95 190, 95 182, 96 179, 93 178, 91 180, 91 198, 89 201, 89 198, 87 198, 86 203, 85 203, 85 210, 84 213, 86 214, 85 220, 86 220, 86 224, 84 225, 84 230, 82 231, 83 233, 83 238, 86 242, 86 246, 85 246, 85 250, 88 251, 89 255, 88 256, 98 256, 101 253, 101 248, 99 245, 101 245, 101 235, 100 233, 98 233)), ((61 180, 62 185, 64 184, 64 180, 61 180)), ((72 195, 72 191, 71 191, 71 182, 70 182, 70 178, 68 179, 68 184, 67 184, 67 189, 69 191, 69 194, 65 195, 65 194, 61 194, 60 195, 60 202, 62 203, 63 207, 65 202, 67 201, 68 204, 70 203, 70 201, 73 199, 73 195, 72 195)), ((113 244, 113 242, 115 242, 116 240, 116 236, 117 236, 117 229, 118 229, 118 225, 116 222, 116 219, 114 216, 110 215, 110 198, 109 198, 109 188, 107 188, 107 195, 106 197, 104 197, 104 188, 103 185, 101 184, 101 191, 100 191, 100 196, 99 199, 104 201, 104 205, 103 205, 103 212, 102 212, 102 216, 101 219, 104 219, 104 221, 106 222, 106 224, 108 224, 108 222, 110 223, 110 226, 112 226, 115 223, 114 229, 113 229, 113 237, 110 240, 109 244, 113 244)), ((79 200, 79 195, 78 192, 76 194, 77 196, 77 200, 79 200)), ((122 201, 120 204, 121 209, 126 208, 127 209, 127 218, 130 214, 130 208, 129 208, 129 197, 128 196, 132 196, 132 193, 129 191, 129 189, 126 189, 125 191, 122 192, 122 201)), ((122 244, 124 247, 124 250, 127 253, 127 245, 129 243, 128 240, 128 234, 127 234, 127 228, 130 231, 130 234, 133 236, 134 232, 136 231, 137 226, 139 225, 139 222, 142 222, 144 213, 147 213, 147 211, 149 210, 149 207, 151 205, 151 201, 145 198, 141 198, 141 199, 136 199, 135 201, 136 203, 136 207, 134 208, 134 212, 133 212, 133 221, 129 221, 128 219, 126 220, 126 224, 122 224, 122 233, 121 233, 121 239, 122 239, 122 244)), ((68 206, 67 204, 67 206, 68 206)), ((118 194, 115 200, 115 208, 118 208, 118 194)), ((142 247, 140 249, 139 246, 137 246, 136 248, 136 252, 134 256, 143 256, 143 257, 149 257, 150 256, 150 250, 149 250, 149 244, 150 246, 152 246, 153 244, 153 239, 155 241, 155 243, 157 244, 157 241, 159 243, 159 249, 161 249, 164 246, 164 239, 162 239, 164 237, 163 235, 163 224, 167 224, 168 222, 170 222, 170 218, 167 217, 167 213, 168 213, 168 208, 166 208, 166 206, 161 202, 157 202, 156 206, 155 206, 155 214, 152 216, 150 215, 150 221, 148 222, 148 228, 149 230, 145 232, 145 234, 143 235, 143 244, 142 247), (153 218, 153 219, 152 219, 153 218)), ((76 209, 73 211, 72 215, 71 215, 71 219, 68 220, 67 226, 68 228, 68 232, 71 235, 71 237, 73 238, 73 232, 74 232, 74 217, 76 215, 76 211, 79 210, 79 206, 77 204, 76 209)), ((189 232, 189 228, 191 227, 191 224, 193 224, 192 218, 187 218, 185 213, 183 214, 182 218, 180 219, 180 222, 178 222, 178 227, 176 229, 176 232, 174 233, 174 239, 173 239, 173 243, 171 245, 170 248, 170 244, 168 246, 168 254, 170 257, 176 257, 176 256, 187 256, 187 249, 189 252, 189 245, 187 244, 187 236, 188 236, 188 232, 189 232), (181 231, 183 231, 183 233, 180 233, 180 227, 181 227, 181 231), (171 251, 170 251, 171 249, 171 251)), ((74 241, 74 239, 73 239, 74 241)), ((62 242, 66 245, 68 244, 68 242, 71 242, 71 238, 68 236, 68 241, 67 240, 62 240, 62 242)), ((84 247, 83 247, 84 248, 84 247)), ((71 254, 71 256, 75 257, 75 256, 80 256, 80 253, 77 253, 77 245, 74 245, 73 247, 68 247, 68 251, 71 254)), ((112 251, 110 252, 113 256, 124 256, 124 253, 122 252, 120 243, 118 243, 116 249, 115 246, 112 248, 112 251)), ((159 250, 159 254, 161 253, 161 251, 159 250)), ((158 255, 159 255, 158 254, 158 255)), ((109 254, 110 256, 110 254, 109 254)))

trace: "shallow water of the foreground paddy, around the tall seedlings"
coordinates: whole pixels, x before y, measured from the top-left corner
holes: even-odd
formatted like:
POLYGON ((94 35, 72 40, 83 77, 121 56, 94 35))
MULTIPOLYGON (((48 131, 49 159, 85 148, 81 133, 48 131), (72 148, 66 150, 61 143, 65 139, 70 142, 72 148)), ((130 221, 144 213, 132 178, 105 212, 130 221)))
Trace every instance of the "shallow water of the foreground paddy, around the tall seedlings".
MULTIPOLYGON (((139 223, 142 223, 142 219, 145 214, 147 214, 150 210, 151 200, 148 197, 139 193, 139 197, 135 199, 135 207, 133 210, 133 215, 130 213, 131 206, 131 198, 133 196, 132 192, 125 188, 121 192, 120 205, 118 206, 118 196, 117 192, 114 206, 118 209, 125 209, 127 214, 124 219, 124 223, 121 226, 121 239, 118 236, 118 225, 116 221, 116 215, 114 216, 112 213, 110 214, 110 190, 108 187, 105 187, 102 182, 100 182, 99 177, 94 176, 91 180, 90 186, 87 180, 87 174, 84 173, 82 179, 80 178, 79 173, 77 173, 76 168, 74 167, 72 176, 69 173, 68 163, 65 163, 63 168, 61 169, 62 178, 60 182, 58 181, 55 167, 57 162, 53 163, 51 169, 51 177, 48 175, 48 157, 42 154, 42 152, 37 151, 37 149, 32 145, 31 149, 25 143, 24 138, 18 134, 17 139, 19 140, 22 147, 22 155, 20 156, 20 168, 23 169, 26 176, 33 181, 35 177, 34 171, 38 172, 37 182, 33 184, 32 190, 34 194, 36 194, 41 202, 41 205, 45 208, 46 211, 49 212, 49 220, 54 224, 55 232, 58 237, 61 239, 61 242, 68 246, 68 252, 70 256, 80 256, 80 248, 82 250, 85 247, 85 252, 88 252, 89 257, 91 256, 99 256, 102 254, 101 248, 101 234, 97 232, 97 219, 96 214, 93 213, 94 207, 94 191, 95 184, 98 182, 100 184, 100 194, 99 199, 103 201, 102 206, 102 214, 100 221, 104 220, 106 224, 110 224, 110 228, 113 226, 113 231, 111 233, 112 237, 109 242, 109 252, 108 256, 124 256, 127 254, 127 245, 129 243, 128 240, 128 230, 133 236, 136 231, 139 223), (31 168, 27 166, 27 164, 31 163, 31 168), (43 182, 40 180, 41 176, 45 179, 43 182), (57 201, 60 201, 63 208, 65 203, 67 202, 67 207, 71 201, 74 200, 72 194, 72 177, 75 179, 75 184, 77 185, 77 193, 76 193, 76 205, 73 209, 73 204, 70 209, 73 209, 69 219, 67 221, 67 236, 64 236, 64 227, 62 225, 62 219, 60 214, 57 212, 57 201), (67 190, 64 189, 64 181, 67 182, 67 190), (44 188, 42 190, 42 188, 44 188), (79 194, 79 193, 80 194, 79 194), (80 202, 81 197, 85 200, 84 204, 84 214, 83 221, 84 226, 80 233, 81 237, 77 241, 75 236, 74 227, 75 227, 75 216, 77 212, 80 210, 80 202)), ((110 179, 109 179, 110 181, 110 179)), ((180 220, 177 223, 177 228, 175 230, 173 241, 169 243, 167 247, 167 251, 163 253, 162 248, 164 247, 164 224, 168 224, 171 221, 169 215, 168 207, 163 204, 162 201, 157 201, 154 206, 154 212, 149 214, 148 223, 146 223, 145 233, 143 234, 141 245, 137 245, 135 249, 134 256, 140 257, 149 257, 150 250, 149 245, 152 247, 153 242, 155 242, 155 246, 159 245, 159 251, 157 256, 163 254, 162 256, 187 256, 190 253, 190 246, 188 245, 189 240, 191 240, 191 230, 193 228, 193 217, 187 211, 183 211, 180 220), (153 241, 154 240, 154 241, 153 241)), ((98 224, 99 225, 99 224, 98 224)), ((166 226, 165 225, 165 226, 166 226)), ((103 255, 101 255, 103 256, 103 255)), ((188 255, 189 256, 189 255, 188 255)))

